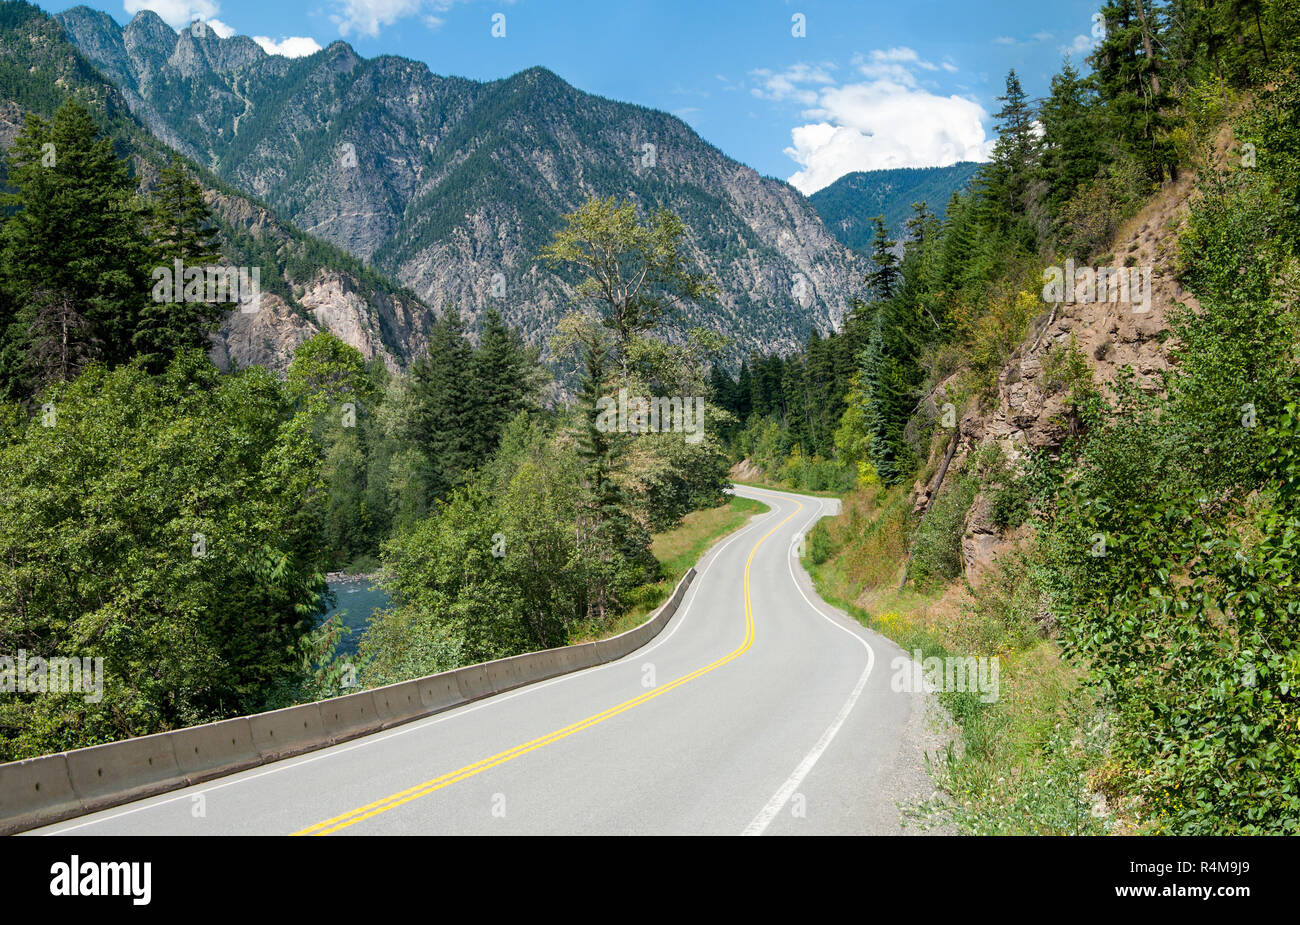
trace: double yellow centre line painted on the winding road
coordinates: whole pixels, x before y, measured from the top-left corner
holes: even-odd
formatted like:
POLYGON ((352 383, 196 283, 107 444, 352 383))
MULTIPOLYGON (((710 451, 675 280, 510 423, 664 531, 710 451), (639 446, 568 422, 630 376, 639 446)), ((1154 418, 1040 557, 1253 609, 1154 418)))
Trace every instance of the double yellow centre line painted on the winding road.
POLYGON ((794 509, 794 513, 792 513, 789 517, 786 517, 780 524, 774 526, 771 530, 764 533, 759 538, 759 540, 754 543, 754 548, 750 550, 749 552, 749 559, 745 561, 745 640, 733 652, 724 655, 718 661, 705 665, 703 668, 699 668, 685 677, 677 678, 671 683, 649 690, 640 696, 632 698, 630 700, 624 700, 618 707, 610 707, 606 711, 595 713, 594 716, 589 716, 585 720, 578 720, 577 722, 564 726, 563 729, 556 729, 554 733, 547 733, 546 735, 536 738, 532 742, 525 742, 521 746, 515 746, 514 748, 498 752, 491 757, 485 757, 482 761, 476 761, 474 764, 465 765, 459 770, 452 770, 447 774, 443 774, 442 777, 434 777, 433 779, 425 781, 424 783, 417 783, 413 787, 400 790, 390 796, 385 796, 381 800, 376 800, 374 803, 367 803, 364 807, 358 807, 356 809, 346 812, 342 816, 334 816, 333 818, 328 818, 324 822, 309 825, 306 829, 302 829, 300 831, 295 831, 294 834, 328 835, 333 831, 338 831, 339 829, 346 829, 350 825, 356 825, 358 822, 370 818, 372 816, 378 816, 380 813, 387 812, 389 809, 395 809, 403 803, 410 803, 411 800, 417 800, 421 796, 428 796, 429 794, 442 790, 443 787, 450 787, 452 783, 456 783, 458 781, 464 781, 469 777, 473 777, 474 774, 481 774, 489 768, 495 768, 497 765, 506 764, 507 761, 515 760, 520 755, 526 755, 528 752, 537 751, 538 748, 545 748, 552 742, 559 742, 560 739, 568 738, 575 733, 580 733, 584 729, 589 729, 597 724, 604 722, 611 717, 628 712, 633 707, 640 707, 642 703, 654 700, 656 696, 662 696, 671 690, 676 690, 677 687, 681 687, 682 685, 694 681, 698 677, 708 674, 708 672, 714 670, 715 668, 722 668, 728 661, 738 659, 740 656, 742 656, 745 652, 749 651, 750 646, 754 644, 754 608, 753 604, 750 603, 750 596, 749 596, 749 570, 750 566, 754 564, 754 556, 758 552, 758 547, 760 547, 768 537, 780 530, 802 509, 803 505, 800 504, 794 509))

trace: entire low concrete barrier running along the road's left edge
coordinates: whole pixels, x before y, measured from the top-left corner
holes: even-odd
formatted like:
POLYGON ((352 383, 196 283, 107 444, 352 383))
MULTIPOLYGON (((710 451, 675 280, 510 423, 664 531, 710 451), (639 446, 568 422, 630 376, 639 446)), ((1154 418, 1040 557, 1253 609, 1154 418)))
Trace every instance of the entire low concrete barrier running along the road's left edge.
POLYGON ((616 661, 668 625, 694 577, 696 570, 689 569, 668 600, 645 622, 610 639, 467 665, 268 713, 0 764, 0 834, 203 783, 515 687, 616 661))

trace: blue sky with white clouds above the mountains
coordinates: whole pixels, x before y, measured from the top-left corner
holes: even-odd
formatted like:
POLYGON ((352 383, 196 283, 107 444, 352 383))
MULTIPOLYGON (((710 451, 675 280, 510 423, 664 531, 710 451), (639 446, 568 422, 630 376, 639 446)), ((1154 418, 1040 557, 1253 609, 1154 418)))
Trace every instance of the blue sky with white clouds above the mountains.
POLYGON ((810 194, 850 170, 983 158, 1008 69, 1043 96, 1065 52, 1082 66, 1098 0, 88 5, 118 22, 146 8, 173 26, 203 18, 290 55, 343 39, 367 57, 402 55, 484 81, 543 65, 580 90, 675 113, 731 157, 810 194))

